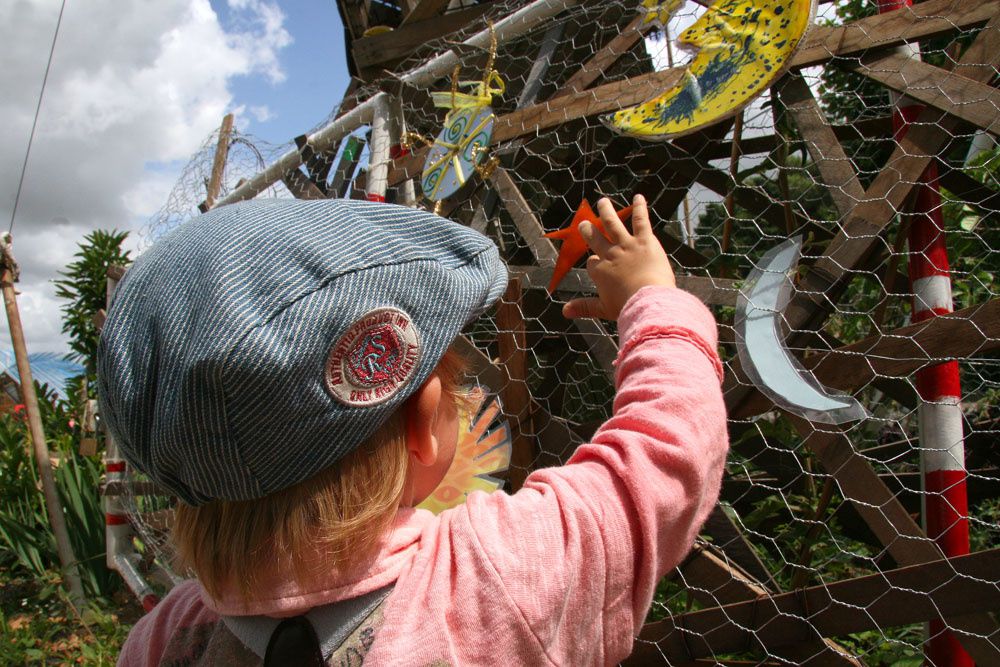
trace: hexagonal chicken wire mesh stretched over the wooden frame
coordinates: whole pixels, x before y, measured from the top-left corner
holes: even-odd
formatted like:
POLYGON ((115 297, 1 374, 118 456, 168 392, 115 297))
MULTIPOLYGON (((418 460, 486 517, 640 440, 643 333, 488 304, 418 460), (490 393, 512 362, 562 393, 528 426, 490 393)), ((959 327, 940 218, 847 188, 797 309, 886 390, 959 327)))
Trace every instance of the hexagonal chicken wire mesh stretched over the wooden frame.
MULTIPOLYGON (((672 141, 623 136, 600 115, 655 96, 692 58, 672 40, 705 7, 679 4, 656 28, 631 4, 567 2, 497 40, 495 53, 488 40, 463 42, 527 3, 455 7, 476 18, 381 62, 365 42, 378 36, 355 36, 367 82, 304 137, 388 95, 389 159, 376 155, 373 120, 322 144, 267 146, 237 133, 220 199, 239 198, 241 179, 298 151, 259 196, 379 195, 381 166, 388 201, 494 238, 512 284, 466 332, 466 352, 503 403, 516 489, 531 470, 565 461, 614 396, 614 324, 562 317, 569 298, 595 290, 581 262, 549 293, 559 244, 542 234, 565 227, 584 200, 621 206, 643 193, 679 285, 718 319, 732 449, 719 506, 661 582, 631 660, 943 665, 967 651, 1000 664, 995 555, 938 563, 928 537, 961 551, 967 527, 964 551, 975 554, 1000 536, 1000 96, 991 87, 1000 30, 983 27, 1000 7, 932 0, 887 20, 874 3, 825 5, 790 70, 742 111, 672 141), (505 90, 492 100, 484 168, 437 202, 422 195, 422 171, 446 120, 431 93, 452 90, 452 69, 418 85, 407 75, 450 49, 461 80, 482 79, 493 62, 505 90), (737 354, 740 290, 765 253, 795 237, 791 300, 773 312, 781 344, 822 387, 856 399, 863 419, 797 416, 737 354), (940 297, 946 276, 946 298, 922 291, 936 286, 940 297), (953 380, 927 379, 944 366, 953 380), (942 451, 944 486, 928 463, 942 451), (928 637, 938 643, 925 655, 928 637)), ((368 18, 398 23, 401 11, 381 4, 368 18)), ((192 159, 151 238, 196 214, 216 144, 210 137, 192 159)), ((147 564, 168 566, 170 499, 136 475, 123 488, 147 564)))

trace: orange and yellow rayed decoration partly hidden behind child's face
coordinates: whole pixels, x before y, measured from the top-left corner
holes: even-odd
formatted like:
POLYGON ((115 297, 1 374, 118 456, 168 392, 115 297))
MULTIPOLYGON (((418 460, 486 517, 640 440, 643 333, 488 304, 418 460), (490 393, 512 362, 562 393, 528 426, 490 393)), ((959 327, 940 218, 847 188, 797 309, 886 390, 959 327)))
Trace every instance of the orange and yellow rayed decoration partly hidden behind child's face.
POLYGON ((459 415, 458 444, 451 466, 441 483, 417 507, 440 514, 464 503, 473 491, 491 493, 503 486, 503 480, 493 475, 510 467, 513 445, 510 426, 505 420, 498 420, 499 415, 499 399, 487 399, 481 387, 470 391, 459 415))

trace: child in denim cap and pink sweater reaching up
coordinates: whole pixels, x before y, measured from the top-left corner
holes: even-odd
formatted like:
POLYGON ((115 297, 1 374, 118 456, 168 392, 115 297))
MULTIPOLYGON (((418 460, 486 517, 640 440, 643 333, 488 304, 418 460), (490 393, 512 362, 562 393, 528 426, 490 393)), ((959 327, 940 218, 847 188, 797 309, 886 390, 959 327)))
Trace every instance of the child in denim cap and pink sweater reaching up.
POLYGON ((727 450, 715 322, 674 287, 646 204, 602 199, 598 297, 618 320, 613 416, 513 495, 414 509, 451 463, 461 329, 501 294, 496 247, 367 202, 253 201, 147 251, 101 338, 102 414, 180 498, 197 576, 123 665, 614 664, 714 506, 727 450))

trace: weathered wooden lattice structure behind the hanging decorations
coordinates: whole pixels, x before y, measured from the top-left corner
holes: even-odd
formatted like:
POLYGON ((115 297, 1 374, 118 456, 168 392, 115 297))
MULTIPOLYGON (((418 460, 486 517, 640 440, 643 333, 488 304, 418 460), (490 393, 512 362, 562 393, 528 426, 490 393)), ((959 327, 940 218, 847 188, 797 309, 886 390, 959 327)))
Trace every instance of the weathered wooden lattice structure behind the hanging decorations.
POLYGON ((1000 610, 1000 551, 988 539, 997 534, 997 518, 973 514, 985 548, 944 559, 920 526, 923 492, 911 469, 920 448, 912 427, 920 398, 911 378, 958 359, 973 380, 963 401, 982 408, 965 415, 970 503, 979 508, 1000 498, 989 366, 1000 348, 1000 301, 986 285, 953 315, 911 324, 901 274, 906 220, 932 165, 949 201, 979 219, 966 230, 982 252, 975 270, 1000 271, 1000 247, 988 239, 1000 187, 949 158, 977 133, 998 135, 1000 0, 929 0, 844 25, 816 25, 788 73, 765 93, 767 107, 749 107, 667 143, 620 137, 596 120, 649 99, 681 75, 682 67, 654 67, 634 7, 567 0, 455 4, 340 0, 354 79, 339 112, 263 172, 223 188, 222 196, 211 192, 206 207, 216 198, 223 205, 257 196, 281 181, 300 198, 374 194, 429 208, 416 195, 427 149, 399 145, 404 131, 436 133, 443 112, 429 93, 447 89, 457 62, 472 71, 482 67, 491 20, 500 41, 497 68, 507 81, 492 138, 499 166, 488 180, 445 200, 441 211, 492 235, 511 267, 497 312, 466 338, 479 380, 501 396, 514 433, 510 487, 518 488, 530 470, 564 460, 609 409, 613 331, 559 315, 563 301, 592 293, 593 285, 576 269, 554 299, 544 289, 557 247, 543 233, 564 226, 582 198, 646 194, 663 221, 658 233, 679 286, 712 306, 720 321, 734 443, 722 504, 704 539, 663 585, 654 605, 662 618, 646 625, 631 662, 866 664, 880 659, 873 642, 919 650, 920 637, 900 640, 890 628, 936 619, 979 665, 1000 664, 1000 626, 992 615, 1000 610), (903 44, 927 50, 937 44, 943 63, 907 57, 895 49, 903 44), (810 84, 817 75, 808 68, 816 67, 905 93, 925 109, 895 140, 887 111, 832 122, 810 84), (754 118, 758 130, 748 132, 754 118), (359 169, 361 141, 368 160, 359 169), (354 147, 345 150, 349 142, 354 147), (881 165, 859 171, 859 153, 878 142, 885 149, 881 165), (797 162, 789 157, 796 152, 797 162), (766 178, 744 175, 765 161, 756 173, 766 178), (829 219, 817 219, 807 197, 789 190, 790 177, 825 202, 829 219), (695 196, 714 198, 715 211, 722 211, 713 226, 711 207, 700 208, 697 240, 688 206, 695 196), (861 424, 831 427, 776 409, 733 353, 740 278, 767 247, 795 234, 805 235, 807 251, 783 314, 787 344, 824 385, 867 403, 872 416, 861 424), (861 326, 846 325, 851 318, 861 326), (851 339, 838 338, 851 332, 851 339), (806 502, 793 502, 800 498, 806 502), (748 517, 768 499, 777 499, 776 514, 790 517, 782 525, 801 539, 783 543, 782 535, 768 532, 775 524, 767 517, 751 525, 748 517), (815 555, 823 540, 839 549, 826 562, 815 555), (849 576, 831 574, 834 563, 849 565, 849 576), (881 640, 865 643, 864 633, 881 640))

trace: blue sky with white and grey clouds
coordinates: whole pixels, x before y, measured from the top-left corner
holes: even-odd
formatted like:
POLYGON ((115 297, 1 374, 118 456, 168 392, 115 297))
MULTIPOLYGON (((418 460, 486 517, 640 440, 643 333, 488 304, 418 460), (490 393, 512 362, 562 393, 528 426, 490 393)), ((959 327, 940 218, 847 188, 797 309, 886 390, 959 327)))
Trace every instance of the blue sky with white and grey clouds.
MULTIPOLYGON (((3 229, 60 5, 0 3, 3 229)), ((29 352, 68 351, 52 280, 84 235, 129 230, 139 247, 138 231, 226 113, 280 144, 325 119, 347 83, 333 0, 67 2, 13 221, 29 352)))

